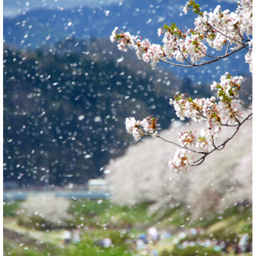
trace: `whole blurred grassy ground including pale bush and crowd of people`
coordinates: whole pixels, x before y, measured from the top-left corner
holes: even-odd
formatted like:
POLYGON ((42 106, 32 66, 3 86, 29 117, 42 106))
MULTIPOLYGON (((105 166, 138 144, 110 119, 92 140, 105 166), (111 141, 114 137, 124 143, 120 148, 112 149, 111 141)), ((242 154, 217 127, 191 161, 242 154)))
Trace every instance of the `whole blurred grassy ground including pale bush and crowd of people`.
POLYGON ((252 209, 237 204, 191 220, 181 204, 30 196, 4 202, 4 255, 229 255, 252 250, 252 209))

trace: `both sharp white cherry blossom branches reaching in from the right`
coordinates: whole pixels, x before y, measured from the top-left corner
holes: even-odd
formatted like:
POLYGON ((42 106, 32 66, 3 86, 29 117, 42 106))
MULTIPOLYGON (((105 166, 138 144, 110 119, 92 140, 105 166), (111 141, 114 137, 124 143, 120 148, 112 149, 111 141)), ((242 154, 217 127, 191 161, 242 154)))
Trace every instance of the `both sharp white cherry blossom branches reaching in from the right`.
MULTIPOLYGON (((172 26, 165 24, 158 29, 158 35, 164 35, 163 46, 151 44, 148 39, 142 40, 138 35, 119 31, 117 27, 110 39, 112 42, 118 42, 118 49, 121 51, 127 51, 127 47, 134 48, 139 59, 142 58, 145 62, 151 61, 153 66, 163 61, 174 66, 198 67, 246 49, 245 62, 248 62, 252 73, 252 0, 239 1, 238 8, 234 12, 221 11, 219 5, 214 12, 202 12, 200 6, 193 0, 186 3, 183 12, 186 14, 189 9, 198 14, 195 19, 195 28, 182 32, 174 23, 172 26), (218 51, 225 47, 225 53, 221 56, 212 56, 207 51, 208 47, 218 51), (172 58, 175 61, 168 61, 172 58)), ((211 90, 217 91, 217 97, 192 99, 186 94, 178 94, 175 99, 170 99, 169 103, 174 105, 180 120, 187 117, 195 122, 205 122, 206 126, 200 132, 200 137, 188 131, 179 134, 180 145, 165 140, 158 135, 157 119, 152 117, 144 118, 142 121, 135 120, 134 117, 126 118, 126 130, 134 136, 136 141, 142 136, 152 136, 179 146, 168 164, 176 173, 181 170, 186 172, 188 166, 199 165, 212 152, 222 150, 225 144, 236 135, 241 125, 252 118, 252 109, 238 99, 239 91, 252 97, 241 88, 242 81, 242 76, 232 77, 226 72, 221 76, 220 82, 211 84, 211 90), (243 117, 236 108, 236 104, 242 104, 251 112, 243 117), (222 126, 233 127, 233 129, 225 141, 217 144, 216 138, 222 126), (195 153, 200 154, 199 157, 195 153)))

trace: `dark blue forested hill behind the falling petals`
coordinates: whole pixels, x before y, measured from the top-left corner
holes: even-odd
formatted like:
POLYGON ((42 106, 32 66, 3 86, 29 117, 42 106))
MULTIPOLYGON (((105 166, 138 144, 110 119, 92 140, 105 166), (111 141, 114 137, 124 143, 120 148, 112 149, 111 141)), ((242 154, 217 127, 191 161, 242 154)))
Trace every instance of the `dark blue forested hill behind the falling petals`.
POLYGON ((124 58, 109 40, 80 47, 82 54, 72 39, 35 51, 5 45, 5 181, 63 185, 98 177, 133 143, 126 117, 152 115, 166 129, 174 117, 169 97, 182 88, 194 95, 189 81, 141 63, 134 52, 124 58))

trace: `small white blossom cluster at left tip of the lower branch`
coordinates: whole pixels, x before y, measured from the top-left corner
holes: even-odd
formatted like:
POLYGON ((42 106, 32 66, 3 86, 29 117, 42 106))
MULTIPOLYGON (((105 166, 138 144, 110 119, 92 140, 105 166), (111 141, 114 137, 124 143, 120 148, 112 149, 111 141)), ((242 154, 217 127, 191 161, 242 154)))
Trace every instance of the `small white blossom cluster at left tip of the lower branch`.
POLYGON ((151 116, 144 118, 142 121, 135 120, 134 117, 125 119, 126 131, 132 134, 136 141, 140 140, 144 135, 150 135, 156 138, 158 132, 156 128, 157 119, 151 116))

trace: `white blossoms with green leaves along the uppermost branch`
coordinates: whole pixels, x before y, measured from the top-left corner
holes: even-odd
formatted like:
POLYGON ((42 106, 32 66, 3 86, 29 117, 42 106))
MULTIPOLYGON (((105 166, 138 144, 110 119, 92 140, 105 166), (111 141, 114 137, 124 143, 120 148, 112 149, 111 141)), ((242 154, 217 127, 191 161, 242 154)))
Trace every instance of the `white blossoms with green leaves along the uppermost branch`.
POLYGON ((148 39, 142 40, 138 35, 131 35, 129 32, 117 33, 118 28, 112 32, 111 41, 118 41, 118 48, 127 51, 127 47, 133 47, 139 59, 151 61, 154 66, 159 60, 166 61, 174 57, 178 62, 190 61, 192 63, 200 61, 203 57, 212 57, 207 54, 209 47, 218 51, 223 46, 230 48, 231 52, 240 47, 246 47, 248 52, 245 61, 249 63, 252 72, 252 0, 241 0, 238 8, 234 12, 229 10, 221 11, 218 5, 214 12, 201 12, 199 5, 194 1, 187 2, 183 11, 187 13, 188 7, 197 11, 199 16, 195 19, 195 28, 186 32, 180 31, 175 24, 171 27, 164 25, 158 29, 158 35, 164 34, 163 47, 151 44, 148 39))

